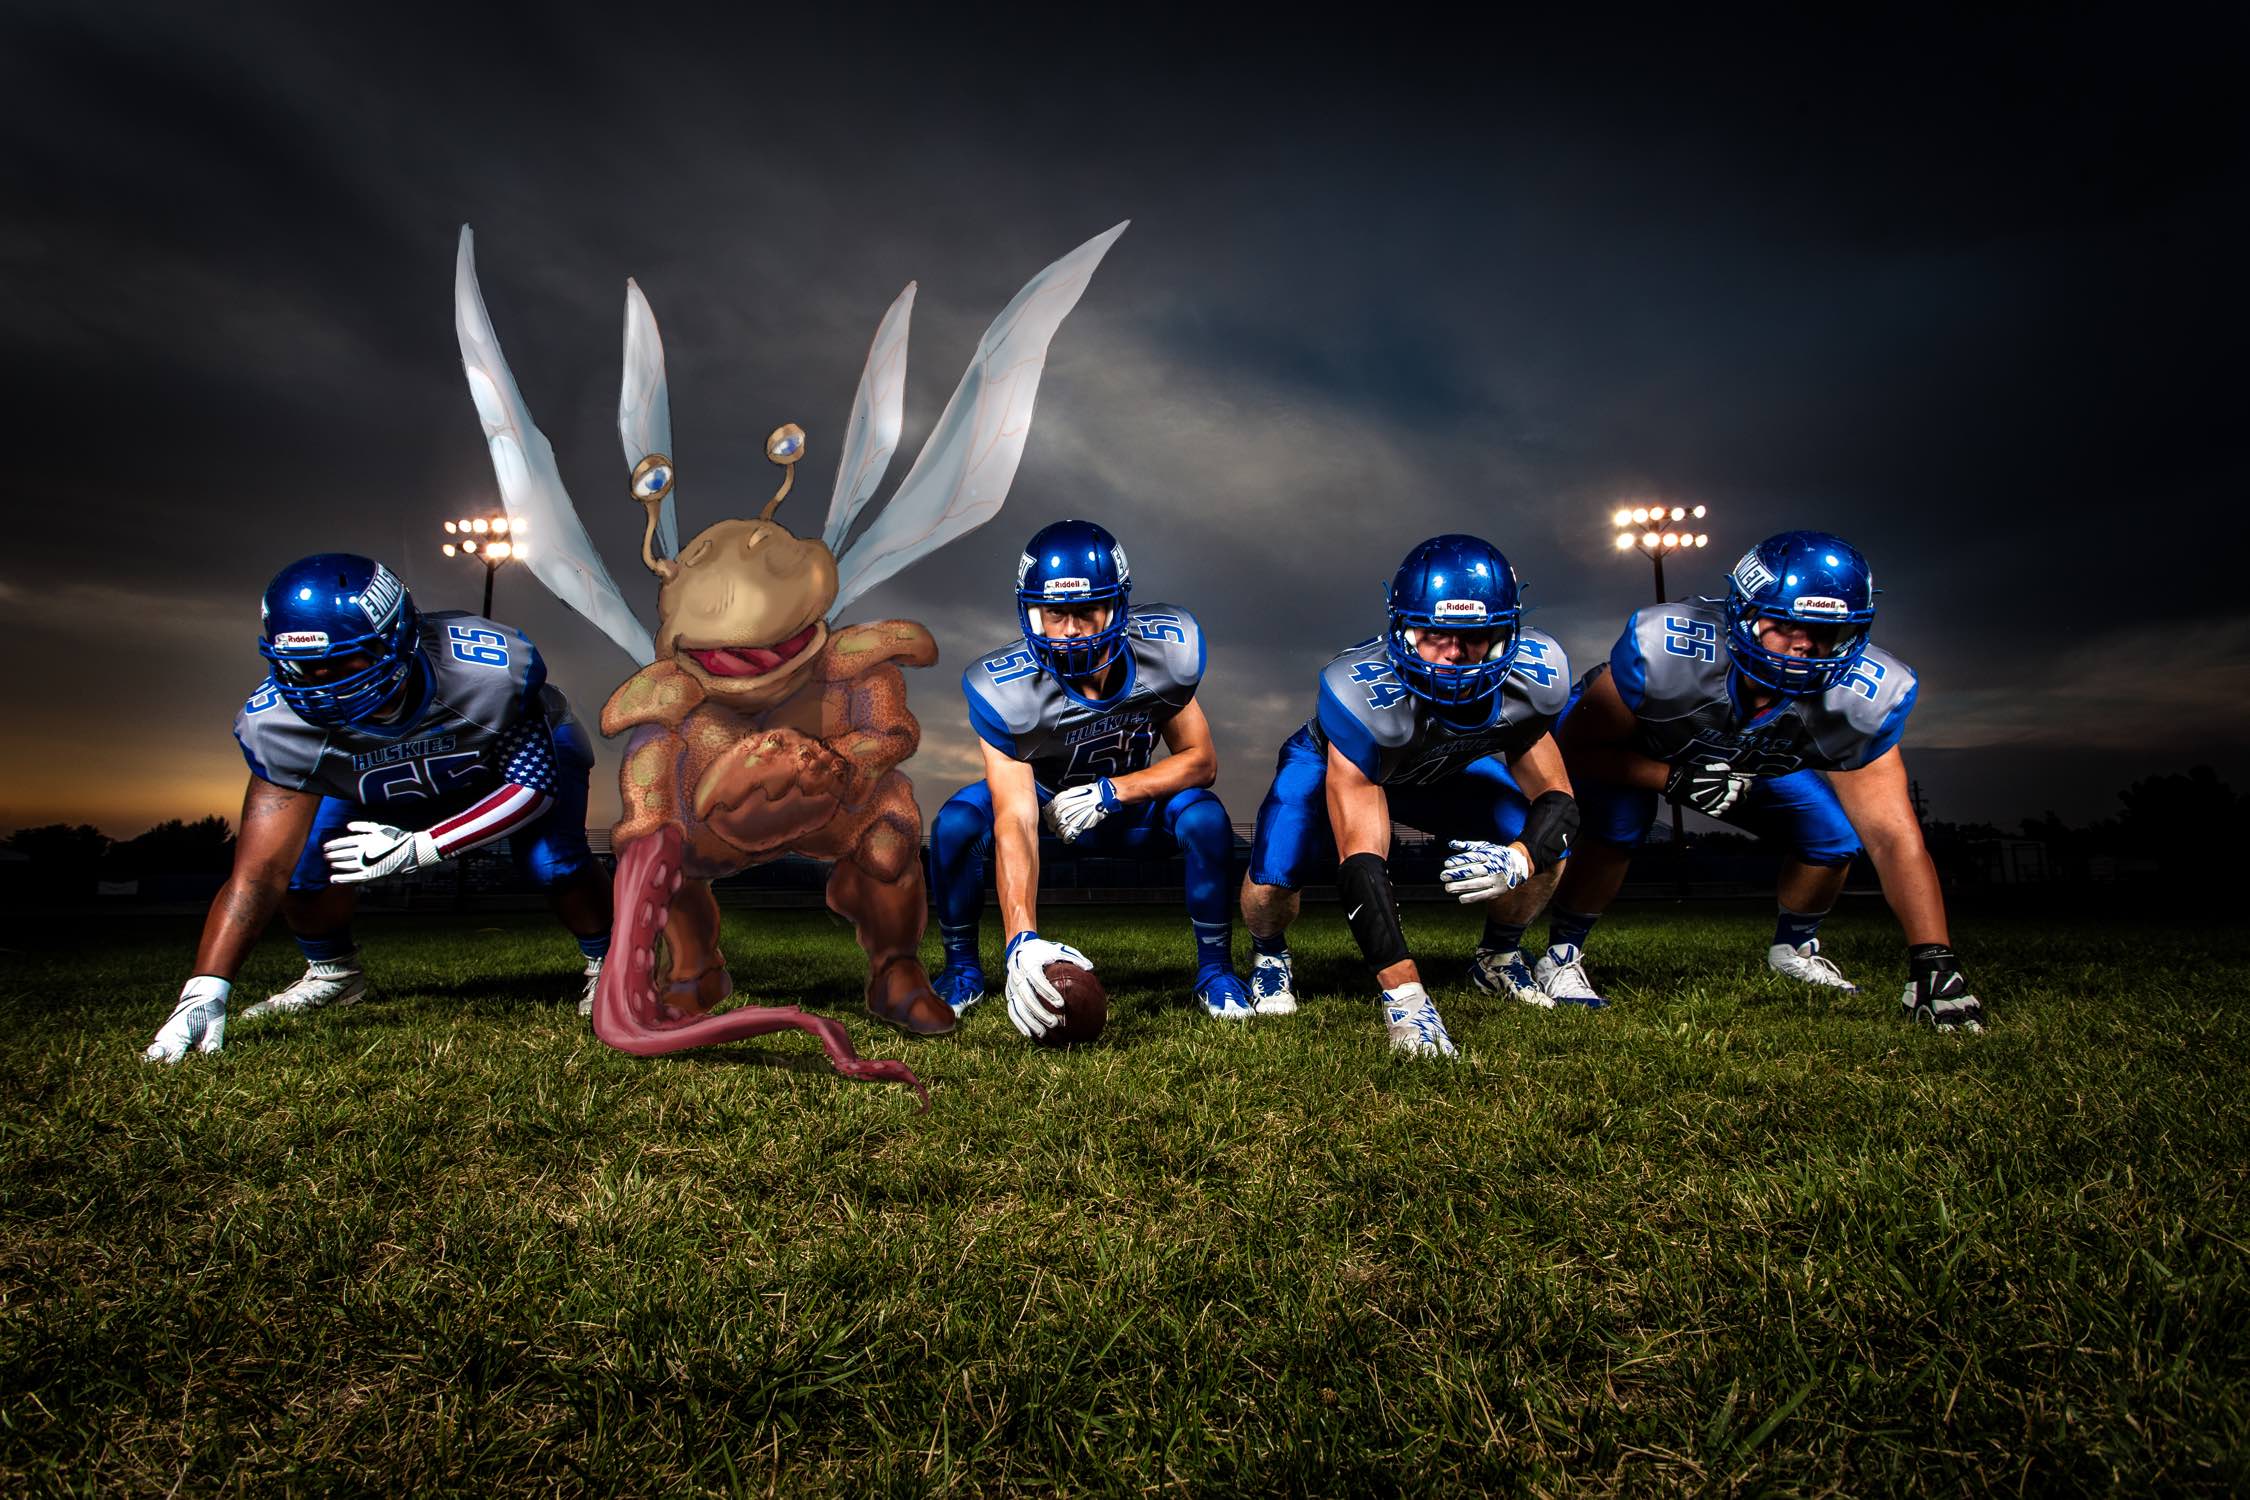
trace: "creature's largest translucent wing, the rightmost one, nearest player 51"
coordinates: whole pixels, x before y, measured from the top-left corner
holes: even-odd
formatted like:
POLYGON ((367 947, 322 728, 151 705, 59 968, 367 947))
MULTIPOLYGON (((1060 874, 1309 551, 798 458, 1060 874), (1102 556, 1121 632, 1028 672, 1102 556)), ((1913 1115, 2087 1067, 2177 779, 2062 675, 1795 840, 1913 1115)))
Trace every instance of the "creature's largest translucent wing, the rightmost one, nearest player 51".
POLYGON ((1120 234, 1125 225, 1096 234, 1033 277, 992 319, 922 454, 866 533, 837 560, 830 614, 999 513, 1030 439, 1046 346, 1120 234))

